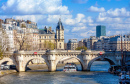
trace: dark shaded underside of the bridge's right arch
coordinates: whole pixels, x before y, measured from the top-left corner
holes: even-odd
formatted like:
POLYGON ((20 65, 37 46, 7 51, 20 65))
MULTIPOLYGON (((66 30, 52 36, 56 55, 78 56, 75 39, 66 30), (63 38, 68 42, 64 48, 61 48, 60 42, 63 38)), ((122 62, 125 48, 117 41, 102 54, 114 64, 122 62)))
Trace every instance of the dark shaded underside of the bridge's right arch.
POLYGON ((90 70, 91 65, 93 64, 93 62, 97 61, 97 60, 108 61, 110 65, 115 65, 116 64, 116 62, 114 60, 110 59, 110 58, 107 58, 107 57, 104 57, 104 58, 102 58, 102 57, 96 57, 96 58, 94 58, 94 59, 92 59, 92 60, 89 61, 87 69, 90 70))

